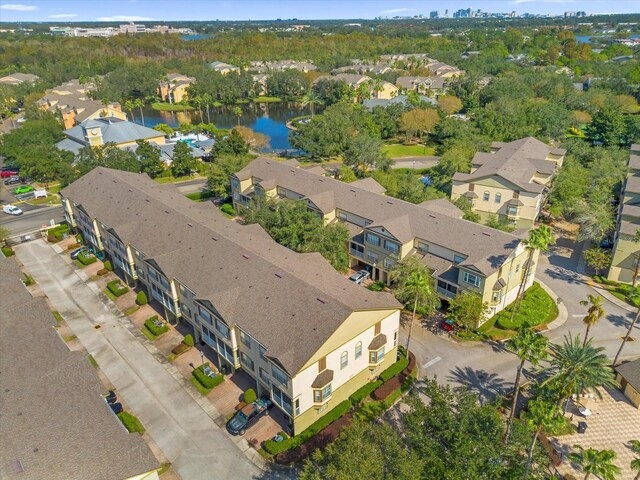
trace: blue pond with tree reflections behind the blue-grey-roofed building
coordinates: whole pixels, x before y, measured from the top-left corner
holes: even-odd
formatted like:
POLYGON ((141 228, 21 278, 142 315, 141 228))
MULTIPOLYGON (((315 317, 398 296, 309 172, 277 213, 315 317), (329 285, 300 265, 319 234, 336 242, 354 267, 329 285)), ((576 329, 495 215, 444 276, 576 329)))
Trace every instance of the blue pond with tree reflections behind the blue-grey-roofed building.
MULTIPOLYGON (((310 115, 310 107, 303 107, 295 102, 278 103, 246 103, 240 105, 242 116, 238 118, 233 112, 233 106, 213 107, 207 115, 203 111, 203 118, 200 112, 192 110, 189 112, 161 112, 153 110, 150 106, 142 109, 144 114, 144 124, 153 127, 159 123, 166 123, 172 128, 177 128, 181 123, 213 123, 217 128, 233 128, 238 123, 249 127, 253 131, 263 133, 270 138, 271 148, 274 150, 288 150, 289 129, 286 123, 295 117, 310 115)), ((322 107, 315 107, 315 112, 319 113, 322 107)), ((133 111, 135 121, 140 121, 140 110, 133 111)))

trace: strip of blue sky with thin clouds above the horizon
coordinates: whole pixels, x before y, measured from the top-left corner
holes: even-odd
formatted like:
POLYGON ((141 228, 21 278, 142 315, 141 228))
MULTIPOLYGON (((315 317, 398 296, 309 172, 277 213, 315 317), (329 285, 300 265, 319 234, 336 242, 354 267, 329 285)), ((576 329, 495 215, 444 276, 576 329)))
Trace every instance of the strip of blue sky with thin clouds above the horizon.
POLYGON ((471 7, 489 12, 640 13, 640 0, 0 0, 0 21, 271 20, 373 18, 451 13, 471 7))

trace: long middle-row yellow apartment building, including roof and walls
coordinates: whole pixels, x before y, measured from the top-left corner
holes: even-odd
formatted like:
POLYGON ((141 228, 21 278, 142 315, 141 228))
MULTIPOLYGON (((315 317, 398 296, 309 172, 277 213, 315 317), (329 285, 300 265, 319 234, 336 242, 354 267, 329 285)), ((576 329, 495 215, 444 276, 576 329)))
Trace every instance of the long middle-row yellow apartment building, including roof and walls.
MULTIPOLYGON (((374 280, 388 281, 397 261, 417 256, 433 270, 443 299, 475 292, 490 314, 512 302, 523 281, 527 253, 521 239, 463 220, 445 199, 415 205, 383 195, 384 188, 371 178, 343 183, 298 168, 295 160, 265 158, 232 176, 231 186, 237 208, 267 195, 305 201, 326 223, 343 222, 351 235, 351 266, 367 269, 374 280)), ((535 265, 527 287, 534 273, 535 265)))

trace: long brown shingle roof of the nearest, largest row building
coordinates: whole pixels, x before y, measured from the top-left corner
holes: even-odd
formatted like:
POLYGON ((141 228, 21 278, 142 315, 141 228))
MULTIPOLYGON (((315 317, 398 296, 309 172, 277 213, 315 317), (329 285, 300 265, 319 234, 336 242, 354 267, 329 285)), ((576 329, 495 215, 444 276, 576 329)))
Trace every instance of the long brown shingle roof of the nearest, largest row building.
POLYGON ((354 310, 400 307, 348 281, 320 254, 295 253, 259 226, 229 221, 212 203, 192 202, 146 175, 96 168, 61 193, 210 301, 290 374, 354 310))

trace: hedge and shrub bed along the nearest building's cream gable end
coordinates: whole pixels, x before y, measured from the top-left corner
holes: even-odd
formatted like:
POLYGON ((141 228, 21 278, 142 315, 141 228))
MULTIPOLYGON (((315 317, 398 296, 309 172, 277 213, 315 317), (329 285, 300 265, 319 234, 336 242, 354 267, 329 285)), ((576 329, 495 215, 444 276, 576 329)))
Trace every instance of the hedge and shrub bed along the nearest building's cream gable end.
POLYGON ((354 417, 375 418, 388 409, 415 380, 415 366, 413 353, 409 353, 409 358, 402 354, 400 360, 382 372, 378 380, 361 387, 305 431, 281 442, 267 440, 263 445, 264 450, 274 455, 275 461, 280 464, 304 460, 317 448, 323 448, 338 438, 354 417), (376 392, 377 401, 372 400, 376 392), (370 401, 361 405, 366 400, 370 401))

